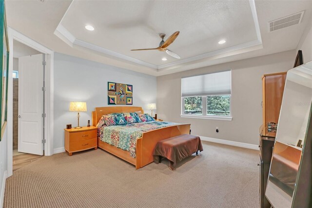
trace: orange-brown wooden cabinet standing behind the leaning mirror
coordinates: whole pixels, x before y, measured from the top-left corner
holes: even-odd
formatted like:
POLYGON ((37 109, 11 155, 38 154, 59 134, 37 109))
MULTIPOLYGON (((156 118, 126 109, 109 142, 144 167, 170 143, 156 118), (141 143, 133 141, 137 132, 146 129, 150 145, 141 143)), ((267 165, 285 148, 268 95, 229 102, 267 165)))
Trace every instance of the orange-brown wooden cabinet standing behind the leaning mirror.
POLYGON ((287 72, 262 76, 263 124, 278 123, 287 72))

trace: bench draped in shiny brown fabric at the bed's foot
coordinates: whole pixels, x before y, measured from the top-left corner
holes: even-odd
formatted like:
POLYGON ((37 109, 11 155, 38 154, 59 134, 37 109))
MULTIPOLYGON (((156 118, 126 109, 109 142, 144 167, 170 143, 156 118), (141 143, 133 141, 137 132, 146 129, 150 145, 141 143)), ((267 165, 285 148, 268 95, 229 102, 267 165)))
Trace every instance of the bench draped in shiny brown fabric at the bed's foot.
POLYGON ((154 162, 161 163, 161 157, 169 160, 169 167, 175 169, 176 163, 203 151, 200 138, 190 134, 182 134, 166 140, 159 141, 154 149, 154 162))

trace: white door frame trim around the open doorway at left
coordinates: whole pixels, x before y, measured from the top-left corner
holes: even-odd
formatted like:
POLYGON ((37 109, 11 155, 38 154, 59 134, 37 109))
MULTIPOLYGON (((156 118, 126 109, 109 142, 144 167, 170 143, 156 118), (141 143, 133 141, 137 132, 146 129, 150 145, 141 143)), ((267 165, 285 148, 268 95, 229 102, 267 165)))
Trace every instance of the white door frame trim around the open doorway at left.
POLYGON ((8 71, 8 112, 7 112, 7 171, 8 177, 13 174, 13 40, 19 41, 31 48, 38 50, 39 52, 46 54, 46 72, 45 72, 45 86, 46 96, 44 107, 46 109, 45 131, 44 137, 46 143, 44 144, 44 155, 53 155, 53 95, 54 95, 54 51, 39 44, 38 42, 28 38, 20 32, 8 27, 8 39, 10 45, 9 56, 9 71, 8 71))

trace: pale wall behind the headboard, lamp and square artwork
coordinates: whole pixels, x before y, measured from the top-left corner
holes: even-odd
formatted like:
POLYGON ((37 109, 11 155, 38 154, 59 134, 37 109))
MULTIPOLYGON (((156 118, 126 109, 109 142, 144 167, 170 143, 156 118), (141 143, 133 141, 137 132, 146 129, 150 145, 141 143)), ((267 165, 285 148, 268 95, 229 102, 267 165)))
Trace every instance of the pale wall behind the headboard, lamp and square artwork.
POLYGON ((77 126, 77 112, 69 111, 71 101, 87 102, 80 113, 80 125, 92 124, 95 107, 108 106, 107 82, 133 85, 133 106, 156 103, 156 77, 55 53, 54 57, 54 148, 64 146, 66 124, 77 126))

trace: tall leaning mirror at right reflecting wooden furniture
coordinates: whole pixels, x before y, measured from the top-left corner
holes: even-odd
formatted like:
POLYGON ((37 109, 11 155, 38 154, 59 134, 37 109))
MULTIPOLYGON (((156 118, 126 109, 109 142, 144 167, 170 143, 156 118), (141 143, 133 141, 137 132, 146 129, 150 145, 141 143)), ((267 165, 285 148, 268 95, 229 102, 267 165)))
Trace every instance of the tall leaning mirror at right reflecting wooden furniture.
POLYGON ((266 197, 273 208, 291 208, 312 105, 312 62, 287 72, 266 197))

